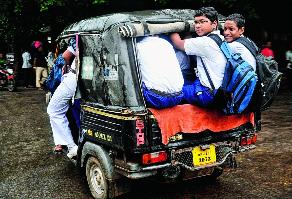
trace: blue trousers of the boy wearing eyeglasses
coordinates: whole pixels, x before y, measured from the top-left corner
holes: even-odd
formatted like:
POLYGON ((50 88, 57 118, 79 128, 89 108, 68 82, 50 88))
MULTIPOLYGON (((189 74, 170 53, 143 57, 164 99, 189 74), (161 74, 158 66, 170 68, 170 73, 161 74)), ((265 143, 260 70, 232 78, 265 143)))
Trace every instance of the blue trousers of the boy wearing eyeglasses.
POLYGON ((183 99, 188 103, 208 109, 214 108, 214 95, 209 92, 210 88, 201 84, 199 78, 194 82, 185 82, 182 91, 184 93, 183 99))

